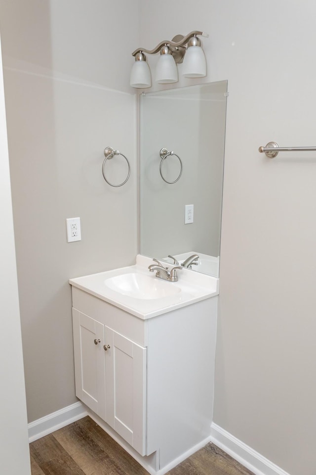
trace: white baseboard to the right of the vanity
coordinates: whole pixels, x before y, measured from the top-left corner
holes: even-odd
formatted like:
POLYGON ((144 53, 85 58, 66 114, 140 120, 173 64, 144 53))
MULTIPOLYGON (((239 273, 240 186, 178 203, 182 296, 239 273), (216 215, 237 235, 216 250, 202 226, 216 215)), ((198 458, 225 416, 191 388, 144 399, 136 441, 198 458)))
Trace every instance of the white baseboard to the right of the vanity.
POLYGON ((215 423, 211 425, 211 441, 255 475, 289 475, 215 423))

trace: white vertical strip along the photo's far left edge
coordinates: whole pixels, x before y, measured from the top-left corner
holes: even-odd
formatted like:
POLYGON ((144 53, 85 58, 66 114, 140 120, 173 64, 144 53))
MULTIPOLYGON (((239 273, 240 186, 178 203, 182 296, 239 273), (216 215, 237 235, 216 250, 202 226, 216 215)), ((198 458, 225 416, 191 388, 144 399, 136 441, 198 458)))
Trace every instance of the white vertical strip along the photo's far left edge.
POLYGON ((7 475, 31 474, 9 155, 0 45, 0 460, 7 475), (18 456, 17 456, 18 455, 18 456))

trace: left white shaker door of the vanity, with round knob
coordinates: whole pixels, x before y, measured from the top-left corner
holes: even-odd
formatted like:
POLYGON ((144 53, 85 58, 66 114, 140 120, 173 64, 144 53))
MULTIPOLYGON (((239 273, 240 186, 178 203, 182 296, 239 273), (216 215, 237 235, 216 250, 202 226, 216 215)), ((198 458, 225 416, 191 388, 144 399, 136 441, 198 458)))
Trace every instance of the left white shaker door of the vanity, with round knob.
POLYGON ((73 308, 73 332, 76 395, 105 420, 104 325, 73 308))

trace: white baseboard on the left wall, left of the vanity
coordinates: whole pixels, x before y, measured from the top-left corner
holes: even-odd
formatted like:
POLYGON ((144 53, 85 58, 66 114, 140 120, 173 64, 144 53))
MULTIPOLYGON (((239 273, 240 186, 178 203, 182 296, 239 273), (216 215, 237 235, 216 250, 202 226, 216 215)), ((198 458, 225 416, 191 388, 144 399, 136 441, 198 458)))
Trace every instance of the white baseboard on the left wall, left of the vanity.
POLYGON ((37 419, 28 425, 29 442, 34 442, 34 440, 40 439, 44 435, 50 434, 61 427, 68 426, 68 424, 78 421, 82 417, 87 416, 87 414, 85 406, 79 401, 37 419))

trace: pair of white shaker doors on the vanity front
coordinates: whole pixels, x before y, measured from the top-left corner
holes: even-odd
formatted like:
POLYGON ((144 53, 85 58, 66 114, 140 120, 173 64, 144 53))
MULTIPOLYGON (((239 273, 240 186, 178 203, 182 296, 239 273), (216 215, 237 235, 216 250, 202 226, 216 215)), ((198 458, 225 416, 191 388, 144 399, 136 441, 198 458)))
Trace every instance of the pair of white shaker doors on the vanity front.
POLYGON ((75 308, 73 332, 77 397, 145 455, 146 348, 75 308))

